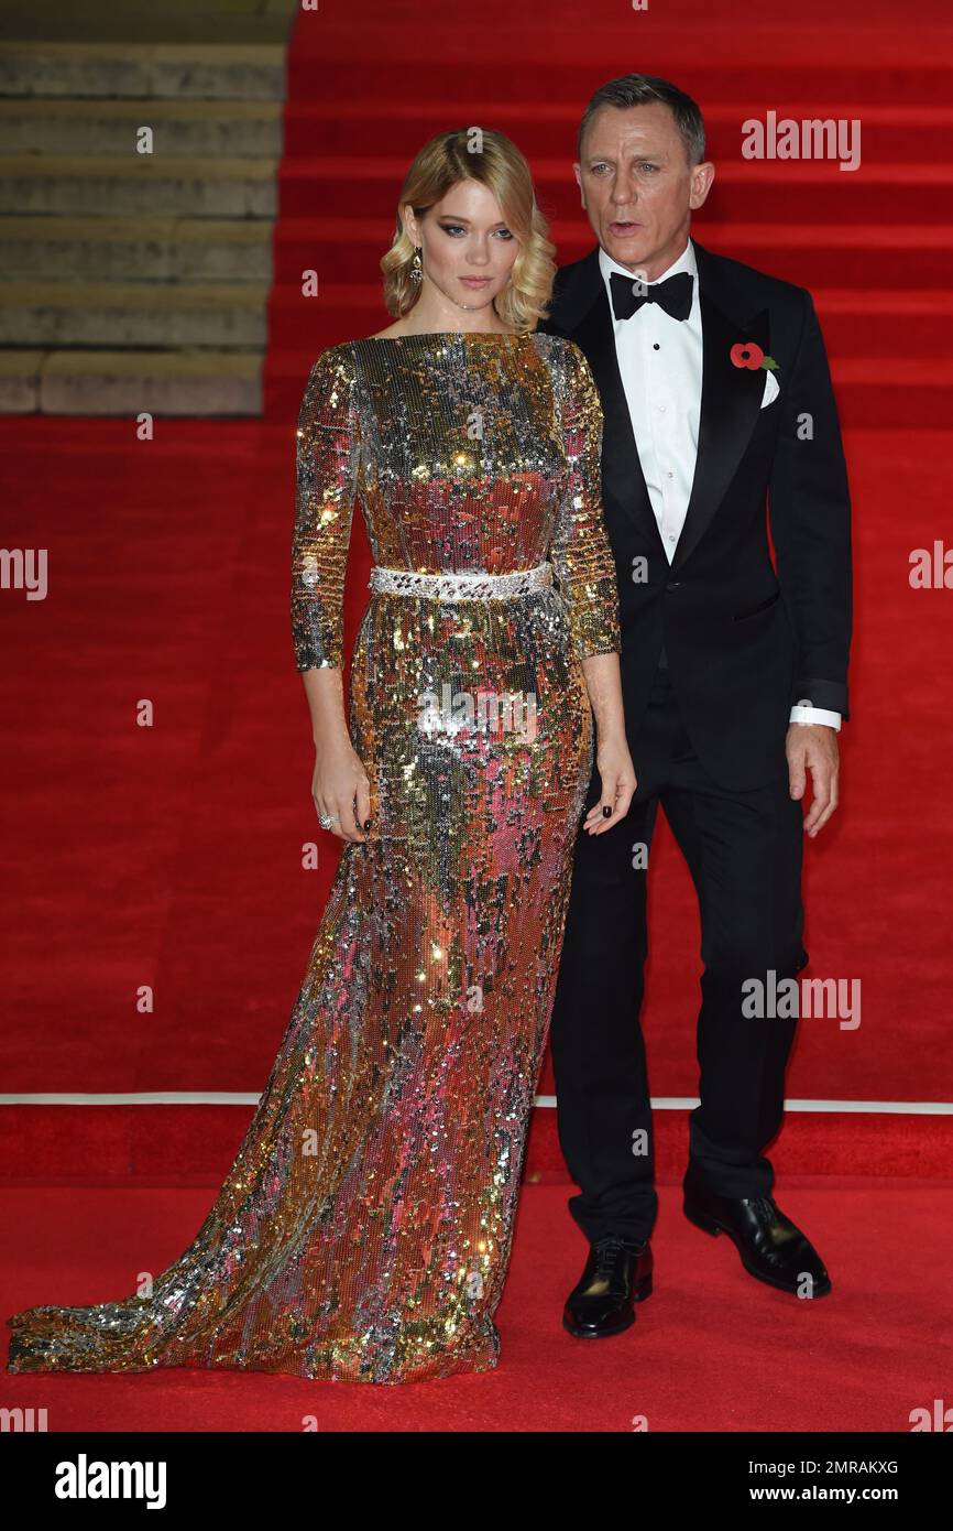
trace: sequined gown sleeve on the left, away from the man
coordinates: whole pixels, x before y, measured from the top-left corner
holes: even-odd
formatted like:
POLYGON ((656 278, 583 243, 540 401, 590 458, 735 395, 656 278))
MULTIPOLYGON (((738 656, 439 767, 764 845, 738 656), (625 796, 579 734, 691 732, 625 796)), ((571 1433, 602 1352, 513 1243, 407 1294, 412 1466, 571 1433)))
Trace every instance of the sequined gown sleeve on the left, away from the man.
POLYGON ((295 453, 291 631, 300 671, 341 668, 359 459, 353 360, 344 348, 323 351, 304 384, 295 453))

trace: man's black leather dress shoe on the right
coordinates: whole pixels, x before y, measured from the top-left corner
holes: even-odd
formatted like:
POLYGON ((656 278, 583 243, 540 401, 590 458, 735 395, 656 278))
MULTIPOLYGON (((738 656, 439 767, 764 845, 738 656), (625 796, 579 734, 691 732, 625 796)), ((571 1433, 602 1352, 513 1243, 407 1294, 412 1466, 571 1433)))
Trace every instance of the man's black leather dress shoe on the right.
POLYGON ((717 1196, 691 1171, 684 1193, 685 1217, 707 1234, 727 1232, 750 1275, 795 1297, 825 1297, 831 1291, 817 1249, 771 1196, 717 1196))

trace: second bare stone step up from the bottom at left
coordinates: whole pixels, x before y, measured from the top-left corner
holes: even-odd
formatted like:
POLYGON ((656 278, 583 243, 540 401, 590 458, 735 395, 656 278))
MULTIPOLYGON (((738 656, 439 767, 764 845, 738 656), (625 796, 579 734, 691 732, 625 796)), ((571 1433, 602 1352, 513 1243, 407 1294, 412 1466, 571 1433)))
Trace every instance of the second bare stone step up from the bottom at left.
POLYGON ((265 349, 268 285, 3 282, 0 346, 265 349))

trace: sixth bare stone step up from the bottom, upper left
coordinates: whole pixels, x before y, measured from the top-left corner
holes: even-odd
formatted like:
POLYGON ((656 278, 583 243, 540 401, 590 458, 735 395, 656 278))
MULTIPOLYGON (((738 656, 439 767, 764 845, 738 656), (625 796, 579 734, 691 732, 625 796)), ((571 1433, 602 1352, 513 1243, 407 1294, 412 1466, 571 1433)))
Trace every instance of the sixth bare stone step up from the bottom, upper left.
POLYGON ((285 47, 233 41, 5 41, 0 96, 283 101, 285 47))

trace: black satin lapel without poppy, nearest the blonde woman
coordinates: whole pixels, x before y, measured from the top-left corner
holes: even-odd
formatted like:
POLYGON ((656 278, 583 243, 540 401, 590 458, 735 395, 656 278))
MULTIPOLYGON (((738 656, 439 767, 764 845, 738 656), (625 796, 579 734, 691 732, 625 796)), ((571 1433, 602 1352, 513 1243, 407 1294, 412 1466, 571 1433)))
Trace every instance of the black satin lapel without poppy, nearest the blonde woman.
POLYGON ((620 374, 606 283, 598 263, 594 263, 594 271, 587 286, 592 302, 580 318, 568 323, 566 335, 584 352, 603 403, 603 487, 664 557, 620 374))

